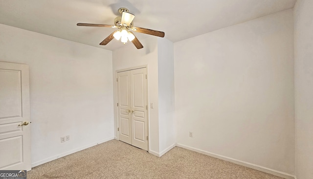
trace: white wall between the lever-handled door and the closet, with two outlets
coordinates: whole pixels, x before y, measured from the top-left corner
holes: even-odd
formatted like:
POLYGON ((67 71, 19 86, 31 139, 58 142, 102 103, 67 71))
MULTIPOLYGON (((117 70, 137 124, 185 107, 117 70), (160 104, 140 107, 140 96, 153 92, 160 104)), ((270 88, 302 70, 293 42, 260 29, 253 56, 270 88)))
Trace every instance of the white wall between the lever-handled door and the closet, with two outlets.
POLYGON ((111 51, 3 24, 0 49, 29 65, 32 166, 113 138, 111 51))

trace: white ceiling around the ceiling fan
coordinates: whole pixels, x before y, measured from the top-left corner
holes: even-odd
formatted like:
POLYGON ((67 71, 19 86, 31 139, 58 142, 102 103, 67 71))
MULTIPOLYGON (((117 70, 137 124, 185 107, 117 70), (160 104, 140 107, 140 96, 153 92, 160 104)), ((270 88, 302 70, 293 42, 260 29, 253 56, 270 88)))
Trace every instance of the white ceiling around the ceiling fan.
MULTIPOLYGON (((114 50, 112 40, 99 45, 114 29, 76 23, 113 24, 120 7, 135 15, 134 26, 165 32, 178 42, 294 6, 296 0, 0 0, 0 23, 114 50)), ((136 33, 139 39, 149 37, 136 33)), ((133 45, 127 43, 127 45, 133 45)), ((142 44, 145 46, 145 44, 142 44)), ((134 50, 136 48, 134 47, 134 50)))

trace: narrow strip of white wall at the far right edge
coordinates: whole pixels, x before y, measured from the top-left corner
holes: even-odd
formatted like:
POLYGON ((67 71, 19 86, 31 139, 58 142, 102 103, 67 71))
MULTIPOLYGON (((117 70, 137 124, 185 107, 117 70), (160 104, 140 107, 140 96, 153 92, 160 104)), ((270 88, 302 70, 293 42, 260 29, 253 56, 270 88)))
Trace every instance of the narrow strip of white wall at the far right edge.
POLYGON ((313 179, 313 1, 294 7, 294 81, 297 179, 313 179))

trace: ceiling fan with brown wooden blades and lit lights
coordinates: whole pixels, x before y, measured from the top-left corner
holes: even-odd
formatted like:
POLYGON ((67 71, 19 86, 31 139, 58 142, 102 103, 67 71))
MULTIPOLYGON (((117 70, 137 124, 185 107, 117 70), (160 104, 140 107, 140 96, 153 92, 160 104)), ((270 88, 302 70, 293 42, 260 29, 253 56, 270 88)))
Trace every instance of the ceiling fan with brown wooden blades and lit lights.
POLYGON ((134 20, 134 14, 129 13, 129 10, 125 7, 121 7, 118 9, 118 12, 121 14, 121 16, 118 16, 114 19, 115 25, 107 25, 107 24, 94 24, 94 23, 77 23, 77 26, 94 26, 94 27, 112 27, 112 28, 118 28, 118 30, 115 30, 110 34, 105 40, 103 40, 100 45, 107 45, 110 41, 112 41, 113 38, 116 40, 121 39, 121 42, 127 43, 128 41, 131 41, 137 49, 143 48, 142 44, 139 42, 139 40, 136 38, 134 33, 130 30, 133 30, 135 32, 140 32, 144 34, 154 35, 157 37, 164 37, 164 32, 157 31, 157 30, 151 30, 147 28, 142 27, 135 27, 133 20, 134 20))

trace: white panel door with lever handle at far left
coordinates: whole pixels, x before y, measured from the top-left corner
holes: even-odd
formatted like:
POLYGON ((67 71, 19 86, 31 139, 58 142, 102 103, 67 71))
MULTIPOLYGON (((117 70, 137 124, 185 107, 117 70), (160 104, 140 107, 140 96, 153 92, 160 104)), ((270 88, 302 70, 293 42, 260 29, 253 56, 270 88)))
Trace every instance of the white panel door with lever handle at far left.
POLYGON ((28 66, 0 62, 0 170, 31 170, 28 66))

